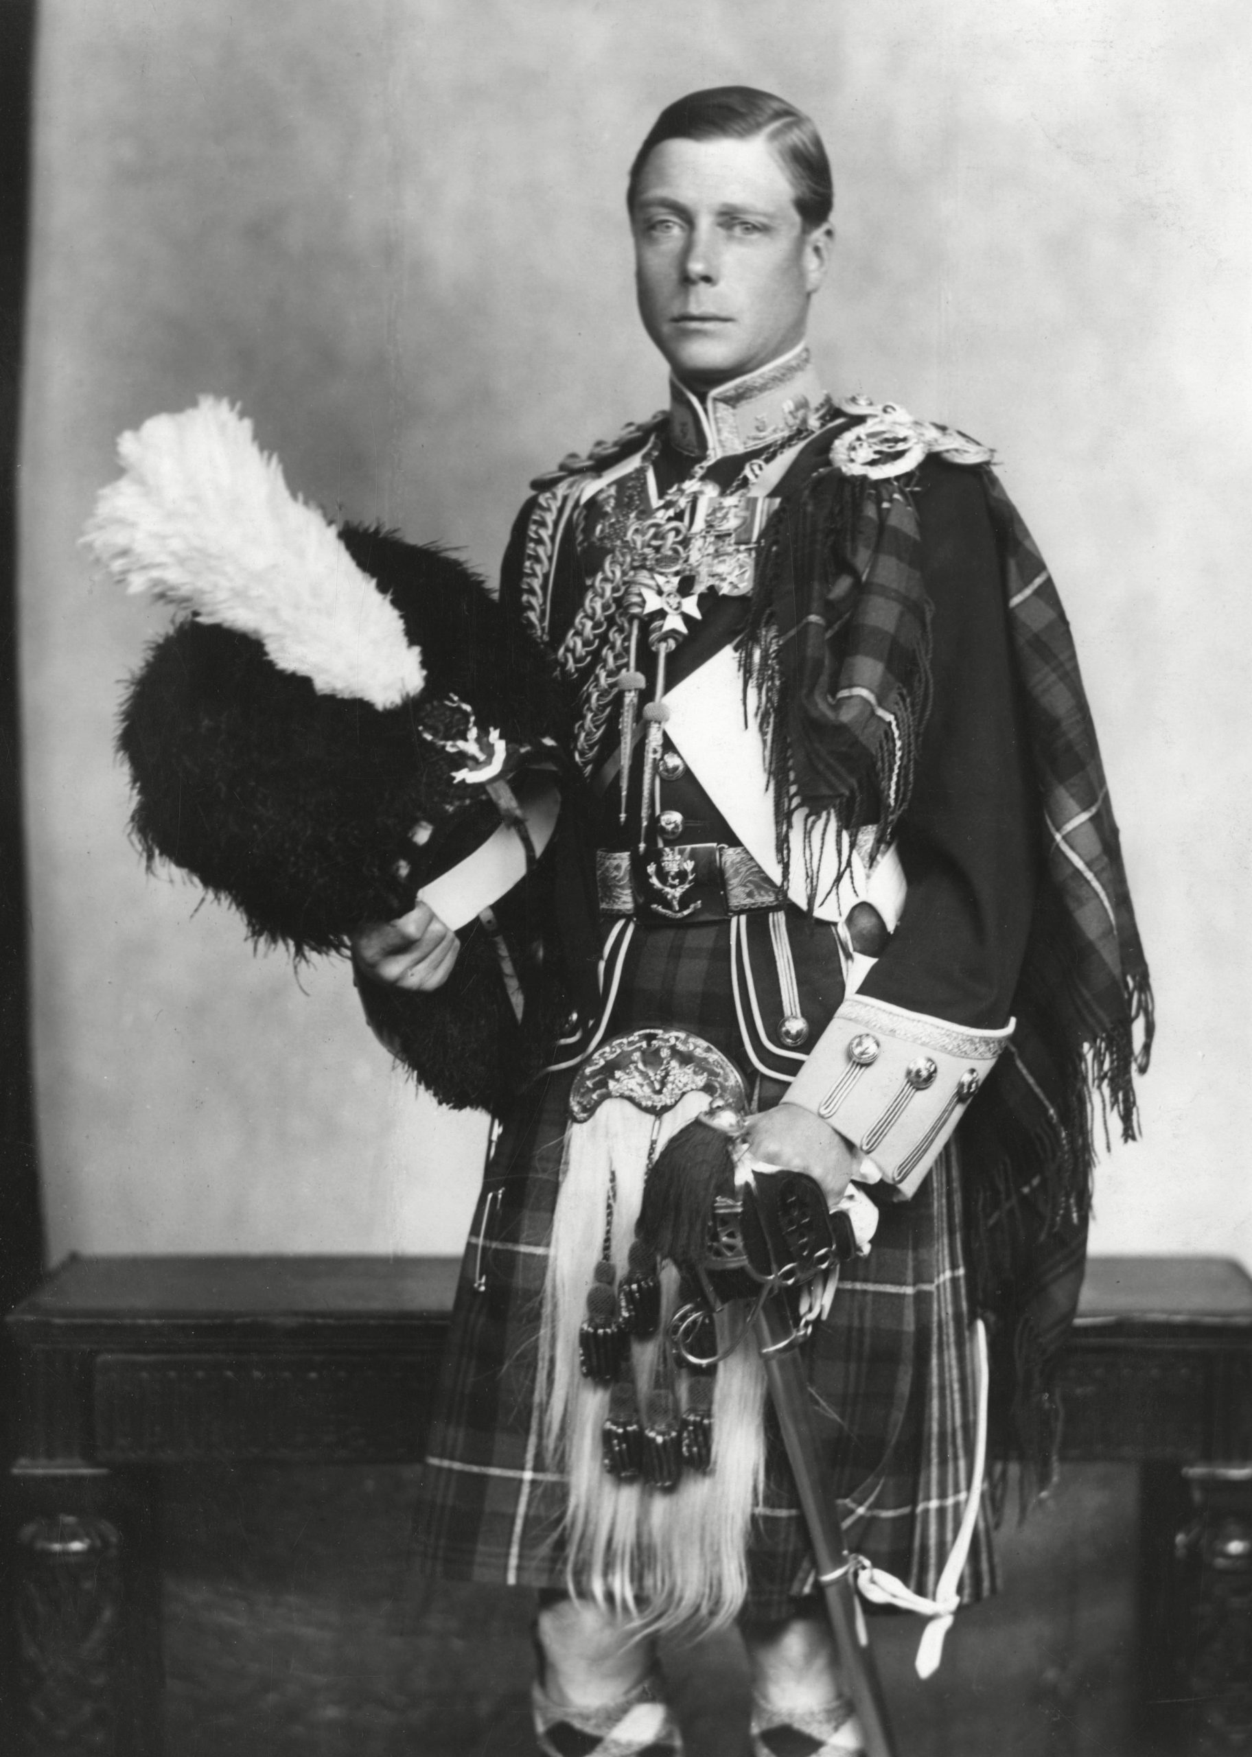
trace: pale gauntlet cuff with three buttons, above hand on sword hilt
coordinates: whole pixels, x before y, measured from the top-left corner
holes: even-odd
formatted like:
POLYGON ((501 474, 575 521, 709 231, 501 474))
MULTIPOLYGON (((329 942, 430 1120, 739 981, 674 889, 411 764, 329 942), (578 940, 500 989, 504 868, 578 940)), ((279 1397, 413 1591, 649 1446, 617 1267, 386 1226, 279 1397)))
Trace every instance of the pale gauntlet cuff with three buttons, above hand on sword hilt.
POLYGON ((974 1031, 849 994, 788 1088, 911 1197, 995 1065, 1013 1026, 974 1031))

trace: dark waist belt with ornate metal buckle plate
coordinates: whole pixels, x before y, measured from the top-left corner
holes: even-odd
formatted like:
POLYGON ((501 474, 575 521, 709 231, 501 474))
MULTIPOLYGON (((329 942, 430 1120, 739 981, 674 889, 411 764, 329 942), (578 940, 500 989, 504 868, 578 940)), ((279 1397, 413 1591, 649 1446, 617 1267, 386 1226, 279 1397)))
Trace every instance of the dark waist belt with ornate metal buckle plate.
POLYGON ((782 908, 786 894, 747 849, 721 842, 659 843, 596 854, 601 915, 673 924, 726 921, 747 908, 782 908))

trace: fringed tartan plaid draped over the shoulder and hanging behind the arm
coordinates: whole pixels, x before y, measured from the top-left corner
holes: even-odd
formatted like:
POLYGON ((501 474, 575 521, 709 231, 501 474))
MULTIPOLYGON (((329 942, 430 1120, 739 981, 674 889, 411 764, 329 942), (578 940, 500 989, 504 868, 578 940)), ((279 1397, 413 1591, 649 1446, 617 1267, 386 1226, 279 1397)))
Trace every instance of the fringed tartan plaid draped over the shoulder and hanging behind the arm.
MULTIPOLYGON (((907 810, 930 689, 914 497, 934 490, 935 466, 867 481, 821 467, 814 453, 784 483, 744 661, 765 703, 781 856, 797 799, 833 810, 853 835, 877 821, 879 843, 890 836, 907 810)), ((1066 613, 1002 485, 988 467, 979 476, 1046 859, 1013 1044, 960 1128, 967 1258, 976 1305, 994 1320, 1002 1442, 1048 1478, 1059 1432, 1050 1374, 1085 1262, 1092 1100, 1099 1093, 1122 1139, 1134 1139, 1132 1075, 1148 1065, 1152 987, 1066 613)))

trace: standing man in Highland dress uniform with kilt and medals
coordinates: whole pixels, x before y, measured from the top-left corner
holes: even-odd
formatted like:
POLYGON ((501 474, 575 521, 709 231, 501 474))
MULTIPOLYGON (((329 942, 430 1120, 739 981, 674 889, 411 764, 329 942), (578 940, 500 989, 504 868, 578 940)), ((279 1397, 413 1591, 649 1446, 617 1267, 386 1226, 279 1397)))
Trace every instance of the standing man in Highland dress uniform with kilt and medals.
MULTIPOLYGON (((1146 970, 1064 615, 990 453, 835 401, 811 364, 833 246, 812 123, 747 88, 682 98, 628 209, 670 406, 536 483, 501 580, 570 682, 601 1003, 499 1119, 419 1550, 540 1588, 545 1752, 679 1750, 638 1625, 732 1615, 754 1750, 855 1752, 751 1342, 712 1390, 665 1323, 610 1388, 571 1367, 580 1330, 617 1323, 605 1286, 630 1328, 656 1270, 631 1251, 644 1179, 709 1102, 633 1109, 630 1079, 600 1102, 587 1070, 647 1084, 640 1042, 673 1066, 698 1040, 742 1079, 756 1160, 832 1207, 869 1193, 872 1249, 805 1369, 849 1548, 879 1597, 941 1618, 994 1587, 976 1320, 1001 1455, 1050 1465, 1090 1081, 1129 1135, 1146 970), (681 1430, 681 1481, 605 1469, 614 1420, 649 1457, 681 1430)), ((441 986, 457 938, 419 905, 353 949, 369 1009, 378 984, 441 986)))

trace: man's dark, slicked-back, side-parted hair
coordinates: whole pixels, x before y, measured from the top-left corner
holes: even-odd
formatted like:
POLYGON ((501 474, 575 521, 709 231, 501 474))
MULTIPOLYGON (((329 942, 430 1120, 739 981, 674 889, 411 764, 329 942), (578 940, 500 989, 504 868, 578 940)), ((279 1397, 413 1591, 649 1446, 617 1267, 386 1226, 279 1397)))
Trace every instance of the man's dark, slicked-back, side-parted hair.
POLYGON ((756 135, 765 135, 786 170, 805 230, 825 225, 835 204, 835 184, 821 135, 795 104, 754 86, 710 86, 666 104, 630 167, 628 213, 635 213, 640 174, 661 141, 753 141, 756 135))

